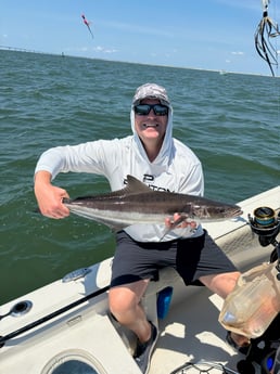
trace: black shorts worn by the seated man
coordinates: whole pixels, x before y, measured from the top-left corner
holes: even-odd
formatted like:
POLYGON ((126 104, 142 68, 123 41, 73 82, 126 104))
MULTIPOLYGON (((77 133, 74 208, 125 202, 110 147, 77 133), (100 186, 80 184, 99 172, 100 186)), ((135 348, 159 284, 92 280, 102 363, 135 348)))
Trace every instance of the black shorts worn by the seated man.
POLYGON ((111 287, 156 281, 165 267, 173 267, 186 285, 202 285, 199 279, 203 275, 237 271, 206 231, 199 237, 158 243, 136 242, 125 231, 116 234, 111 287))

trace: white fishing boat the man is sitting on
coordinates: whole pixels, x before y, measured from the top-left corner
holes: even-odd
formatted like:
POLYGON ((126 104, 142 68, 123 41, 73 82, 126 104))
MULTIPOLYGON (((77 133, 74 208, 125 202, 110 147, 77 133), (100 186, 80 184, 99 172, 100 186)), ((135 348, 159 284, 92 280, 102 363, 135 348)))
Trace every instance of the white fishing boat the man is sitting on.
MULTIPOLYGON (((243 272, 269 260, 271 246, 259 244, 249 215, 262 206, 279 211, 280 185, 238 204, 242 217, 204 228, 243 272)), ((74 269, 0 306, 0 374, 140 374, 135 336, 109 312, 111 265, 107 258, 74 269)), ((206 287, 186 287, 173 269, 164 269, 142 302, 160 331, 149 374, 238 373, 242 356, 225 340, 220 297, 206 287)))

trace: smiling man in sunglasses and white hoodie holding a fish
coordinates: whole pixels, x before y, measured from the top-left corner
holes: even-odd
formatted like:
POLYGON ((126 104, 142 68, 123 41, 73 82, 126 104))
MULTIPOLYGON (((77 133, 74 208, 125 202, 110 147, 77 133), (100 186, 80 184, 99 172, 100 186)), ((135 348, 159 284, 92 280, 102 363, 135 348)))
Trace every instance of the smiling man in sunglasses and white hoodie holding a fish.
MULTIPOLYGON (((59 172, 103 175, 112 191, 123 189, 127 175, 132 175, 154 190, 203 195, 200 160, 171 136, 173 107, 166 90, 155 83, 139 87, 130 120, 132 134, 126 138, 55 147, 41 155, 35 170, 35 194, 44 216, 60 219, 69 215, 62 204, 67 192, 51 184, 59 172)), ((141 298, 158 269, 174 267, 186 285, 206 285, 222 298, 240 275, 201 225, 190 233, 188 225, 193 223, 183 222, 164 236, 170 223, 167 217, 162 225, 133 224, 116 234, 109 305, 117 321, 138 337, 135 359, 142 373, 149 370, 157 331, 147 320, 141 298)), ((247 343, 234 335, 228 336, 237 347, 247 343)))

